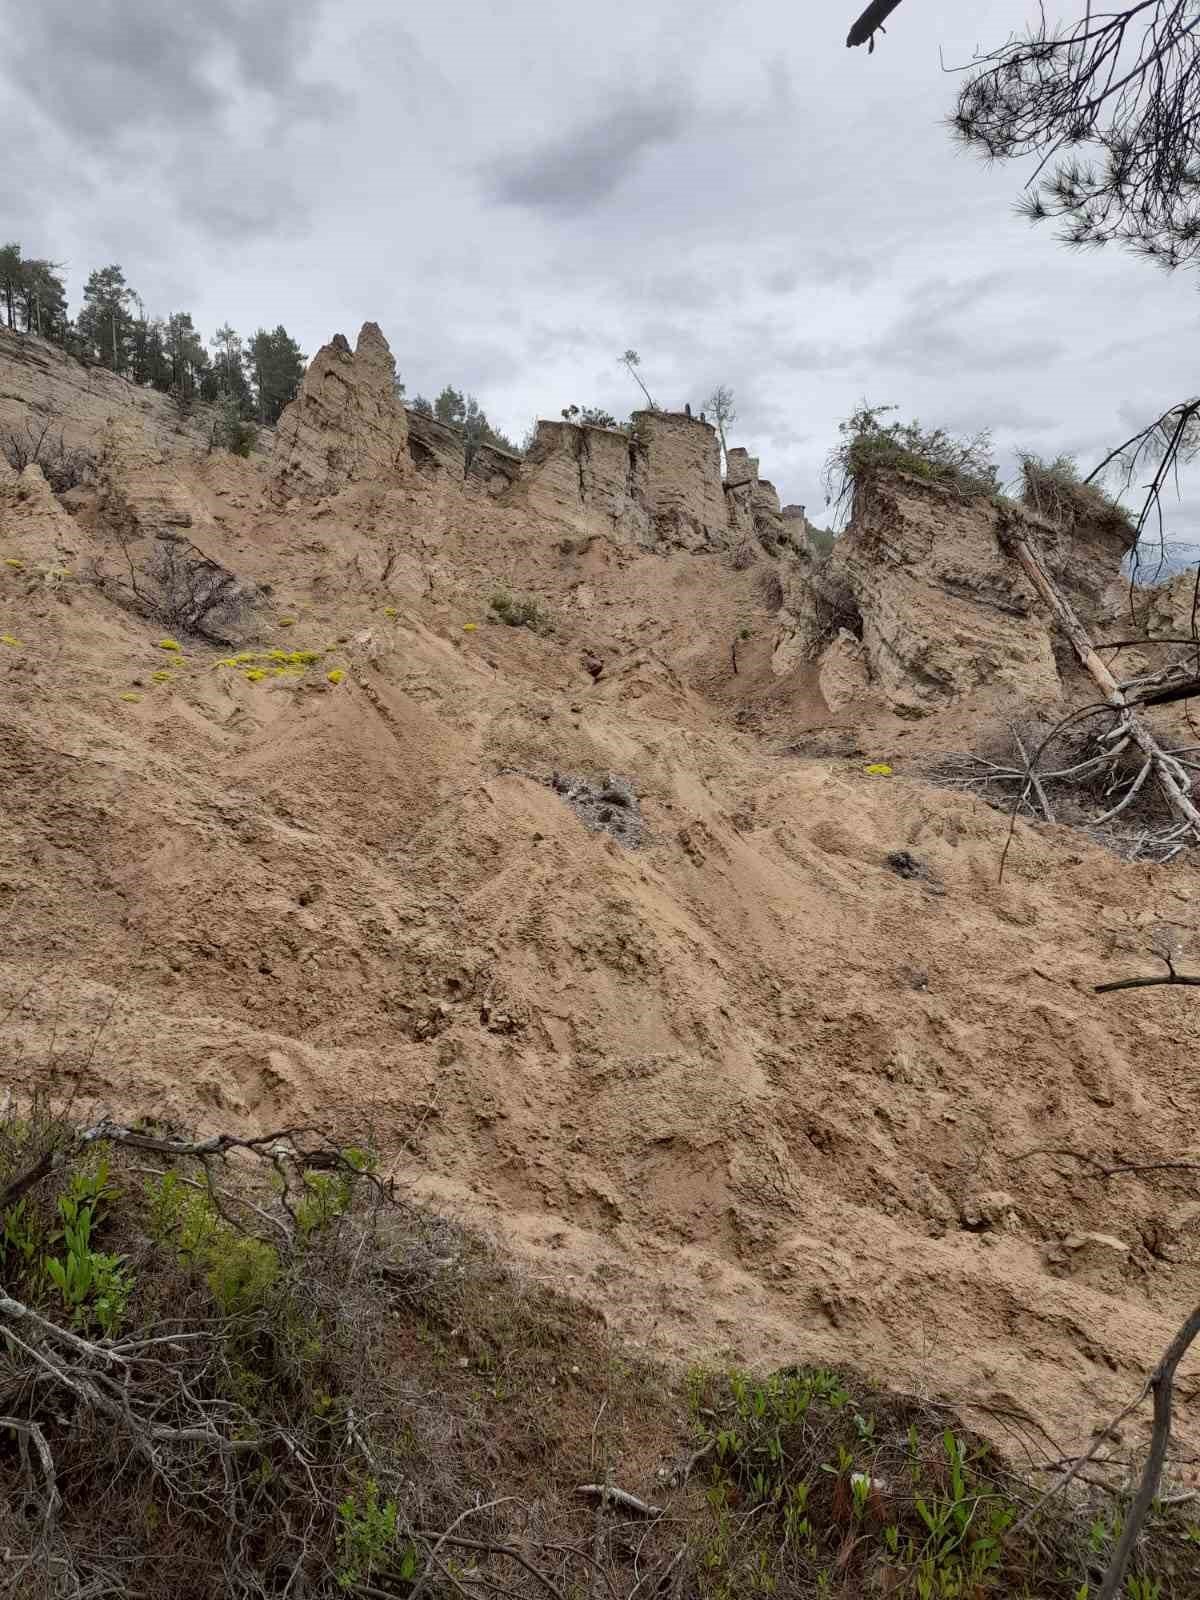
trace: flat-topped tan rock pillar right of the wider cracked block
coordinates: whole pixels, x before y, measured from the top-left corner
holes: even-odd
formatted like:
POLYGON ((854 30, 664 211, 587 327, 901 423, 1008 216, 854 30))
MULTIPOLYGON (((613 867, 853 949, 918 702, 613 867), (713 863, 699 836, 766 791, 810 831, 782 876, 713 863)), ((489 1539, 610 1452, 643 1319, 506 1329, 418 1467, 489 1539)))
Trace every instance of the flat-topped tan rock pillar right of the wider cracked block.
POLYGON ((682 411, 635 411, 634 438, 646 458, 646 504, 654 544, 725 549, 730 514, 717 430, 682 411))

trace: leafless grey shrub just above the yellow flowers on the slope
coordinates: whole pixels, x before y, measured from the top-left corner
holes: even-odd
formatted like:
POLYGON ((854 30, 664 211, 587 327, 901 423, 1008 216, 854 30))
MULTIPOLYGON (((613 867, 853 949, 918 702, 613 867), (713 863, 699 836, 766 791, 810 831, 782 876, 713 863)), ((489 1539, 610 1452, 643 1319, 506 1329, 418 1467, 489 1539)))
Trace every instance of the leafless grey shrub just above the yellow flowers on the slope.
POLYGON ((195 544, 174 534, 160 534, 154 550, 134 560, 122 541, 126 574, 98 571, 98 586, 118 605, 162 622, 176 634, 195 634, 216 643, 230 643, 229 629, 245 621, 258 605, 261 590, 227 566, 205 555, 195 544))

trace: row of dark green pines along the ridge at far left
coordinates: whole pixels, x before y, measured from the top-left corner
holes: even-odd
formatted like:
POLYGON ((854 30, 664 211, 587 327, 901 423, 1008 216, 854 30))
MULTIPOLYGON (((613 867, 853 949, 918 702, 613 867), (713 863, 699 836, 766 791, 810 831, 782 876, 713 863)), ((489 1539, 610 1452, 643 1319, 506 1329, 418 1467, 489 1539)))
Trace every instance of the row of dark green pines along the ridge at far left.
POLYGON ((277 422, 296 397, 307 357, 282 323, 250 339, 224 323, 205 342, 190 312, 147 317, 115 264, 90 274, 72 318, 61 270, 61 262, 26 256, 19 243, 0 245, 0 317, 10 330, 51 339, 82 362, 182 402, 224 402, 246 422, 277 422))

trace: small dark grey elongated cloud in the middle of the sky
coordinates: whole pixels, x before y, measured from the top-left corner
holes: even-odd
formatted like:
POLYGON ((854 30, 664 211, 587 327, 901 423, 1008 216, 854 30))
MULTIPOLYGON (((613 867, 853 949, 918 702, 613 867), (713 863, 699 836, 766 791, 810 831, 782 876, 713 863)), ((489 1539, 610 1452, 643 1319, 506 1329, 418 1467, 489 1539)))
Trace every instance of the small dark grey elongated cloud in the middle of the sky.
POLYGON ((490 162, 488 194, 502 205, 584 211, 616 194, 650 150, 677 141, 688 118, 686 99, 674 88, 626 94, 598 117, 490 162))

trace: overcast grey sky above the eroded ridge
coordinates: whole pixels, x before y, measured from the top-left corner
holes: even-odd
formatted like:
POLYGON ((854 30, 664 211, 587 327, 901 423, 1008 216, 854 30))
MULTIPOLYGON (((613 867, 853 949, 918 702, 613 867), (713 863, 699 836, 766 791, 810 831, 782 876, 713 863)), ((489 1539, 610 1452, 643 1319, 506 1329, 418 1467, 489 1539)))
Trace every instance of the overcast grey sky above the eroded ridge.
MULTIPOLYGON (((946 64, 1032 0, 0 0, 0 234, 205 334, 365 318, 408 392, 520 438, 568 403, 738 397, 821 512, 861 398, 1091 466, 1195 387, 1200 298, 1013 216, 1026 171, 944 126, 946 64)), ((1074 14, 1074 3, 1070 6, 1074 14)), ((731 440, 734 442, 734 440, 731 440)), ((1173 538, 1192 533, 1176 509, 1173 538)))

